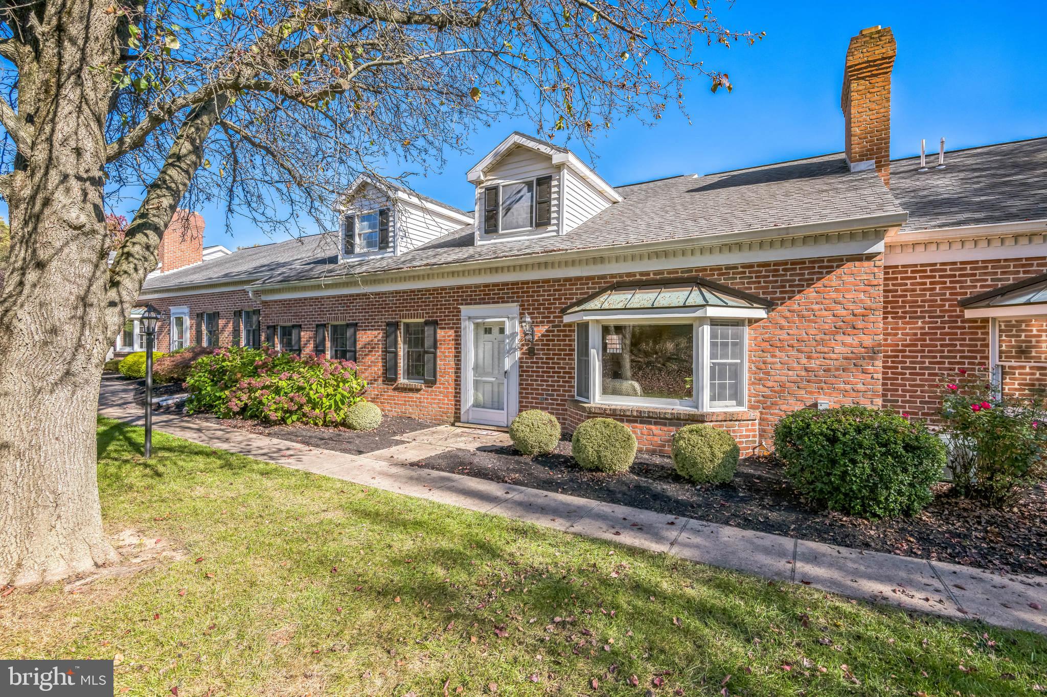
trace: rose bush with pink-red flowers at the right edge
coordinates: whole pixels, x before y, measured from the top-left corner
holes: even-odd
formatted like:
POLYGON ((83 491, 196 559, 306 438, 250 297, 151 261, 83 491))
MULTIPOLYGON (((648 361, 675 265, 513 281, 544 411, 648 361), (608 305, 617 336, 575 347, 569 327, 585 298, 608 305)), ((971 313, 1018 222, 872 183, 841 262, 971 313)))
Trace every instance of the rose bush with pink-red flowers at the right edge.
POLYGON ((1043 477, 1047 422, 1040 399, 997 392, 987 374, 961 368, 939 416, 953 490, 999 507, 1043 477))

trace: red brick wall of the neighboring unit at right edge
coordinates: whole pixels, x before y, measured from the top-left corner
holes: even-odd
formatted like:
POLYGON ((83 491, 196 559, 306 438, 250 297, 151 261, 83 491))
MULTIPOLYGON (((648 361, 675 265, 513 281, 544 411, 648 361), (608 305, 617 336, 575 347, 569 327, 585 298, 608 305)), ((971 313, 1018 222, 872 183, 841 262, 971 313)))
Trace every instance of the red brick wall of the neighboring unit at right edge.
POLYGON ((946 376, 988 363, 988 320, 964 319, 959 301, 1045 271, 1043 257, 886 266, 884 405, 934 416, 946 376))

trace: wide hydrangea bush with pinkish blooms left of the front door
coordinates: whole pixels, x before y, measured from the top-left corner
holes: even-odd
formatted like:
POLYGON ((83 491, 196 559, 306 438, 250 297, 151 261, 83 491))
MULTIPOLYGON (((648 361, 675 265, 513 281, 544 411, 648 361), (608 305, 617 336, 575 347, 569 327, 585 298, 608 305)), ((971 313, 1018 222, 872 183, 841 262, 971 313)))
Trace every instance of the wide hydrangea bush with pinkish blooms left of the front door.
POLYGON ((190 413, 333 426, 346 423, 366 382, 351 361, 222 348, 193 365, 185 387, 190 413))

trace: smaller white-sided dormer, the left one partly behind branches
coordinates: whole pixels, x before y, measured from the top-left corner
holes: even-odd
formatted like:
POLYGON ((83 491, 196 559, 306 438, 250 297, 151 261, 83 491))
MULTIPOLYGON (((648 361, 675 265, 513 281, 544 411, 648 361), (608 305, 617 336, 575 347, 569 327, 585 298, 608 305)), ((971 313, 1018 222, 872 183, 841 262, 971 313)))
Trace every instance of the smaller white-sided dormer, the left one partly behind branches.
POLYGON ((472 223, 456 208, 358 177, 339 205, 339 260, 402 254, 472 223))

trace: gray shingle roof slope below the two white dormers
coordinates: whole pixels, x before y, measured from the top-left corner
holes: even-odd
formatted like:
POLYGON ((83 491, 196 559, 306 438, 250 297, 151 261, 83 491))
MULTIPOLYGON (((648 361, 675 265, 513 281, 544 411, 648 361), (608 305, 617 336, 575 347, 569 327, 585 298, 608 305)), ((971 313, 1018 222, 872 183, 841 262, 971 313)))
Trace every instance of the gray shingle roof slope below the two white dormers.
POLYGON ((209 274, 264 276, 259 282, 270 284, 905 214, 875 171, 851 172, 842 154, 672 177, 617 190, 622 203, 562 236, 475 246, 472 227, 466 226, 399 256, 338 263, 336 235, 326 233, 305 238, 313 240, 312 255, 293 241, 253 248, 244 252, 255 255, 238 265, 233 259, 242 252, 150 279, 147 288, 200 283, 209 274), (255 251, 266 249, 270 252, 255 251), (222 261, 226 265, 219 266, 222 261))

